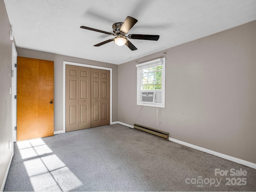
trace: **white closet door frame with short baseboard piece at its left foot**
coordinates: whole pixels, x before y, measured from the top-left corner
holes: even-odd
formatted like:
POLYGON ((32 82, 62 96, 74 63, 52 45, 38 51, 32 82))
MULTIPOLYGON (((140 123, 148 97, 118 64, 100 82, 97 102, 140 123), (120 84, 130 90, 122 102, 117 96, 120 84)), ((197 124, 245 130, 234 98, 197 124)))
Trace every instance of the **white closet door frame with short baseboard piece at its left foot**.
POLYGON ((112 68, 99 67, 82 63, 63 61, 63 131, 55 131, 54 134, 66 133, 66 65, 75 65, 79 67, 90 67, 94 69, 104 69, 110 71, 110 125, 112 125, 112 68))

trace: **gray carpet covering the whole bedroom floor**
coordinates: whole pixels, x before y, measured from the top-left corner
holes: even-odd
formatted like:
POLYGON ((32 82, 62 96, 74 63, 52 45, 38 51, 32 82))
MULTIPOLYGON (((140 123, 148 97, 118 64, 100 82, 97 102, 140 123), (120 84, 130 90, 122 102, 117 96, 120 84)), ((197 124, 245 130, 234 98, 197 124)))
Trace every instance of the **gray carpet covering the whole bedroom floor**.
POLYGON ((256 191, 256 170, 115 124, 15 143, 4 191, 256 191))

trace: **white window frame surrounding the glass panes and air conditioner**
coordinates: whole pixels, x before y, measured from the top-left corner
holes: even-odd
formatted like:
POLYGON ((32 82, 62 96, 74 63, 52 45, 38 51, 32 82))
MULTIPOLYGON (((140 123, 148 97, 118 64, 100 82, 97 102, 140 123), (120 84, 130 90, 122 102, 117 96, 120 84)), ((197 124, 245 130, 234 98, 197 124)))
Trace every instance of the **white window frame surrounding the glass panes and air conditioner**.
MULTIPOLYGON (((156 64, 156 66, 159 66, 156 64)), ((140 63, 136 65, 137 67, 137 105, 142 106, 149 106, 149 107, 161 107, 165 108, 165 57, 154 59, 151 61, 147 61, 144 63, 140 63), (143 68, 151 68, 152 65, 155 65, 155 63, 162 63, 162 89, 142 89, 142 69, 141 66, 144 66, 143 68), (162 103, 152 103, 152 102, 146 102, 146 101, 140 101, 141 93, 142 92, 162 92, 162 103)))

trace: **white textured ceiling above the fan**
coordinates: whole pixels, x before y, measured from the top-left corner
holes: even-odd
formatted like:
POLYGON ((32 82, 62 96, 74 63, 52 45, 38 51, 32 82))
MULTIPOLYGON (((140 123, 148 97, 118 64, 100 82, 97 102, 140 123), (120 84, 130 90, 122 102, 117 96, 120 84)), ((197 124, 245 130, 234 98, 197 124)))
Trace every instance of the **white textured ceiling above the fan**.
POLYGON ((151 53, 256 20, 256 0, 4 0, 16 44, 107 63, 121 64, 151 53), (130 40, 138 50, 113 36, 80 26, 112 31, 126 16, 138 22, 128 34, 160 35, 158 41, 130 40))

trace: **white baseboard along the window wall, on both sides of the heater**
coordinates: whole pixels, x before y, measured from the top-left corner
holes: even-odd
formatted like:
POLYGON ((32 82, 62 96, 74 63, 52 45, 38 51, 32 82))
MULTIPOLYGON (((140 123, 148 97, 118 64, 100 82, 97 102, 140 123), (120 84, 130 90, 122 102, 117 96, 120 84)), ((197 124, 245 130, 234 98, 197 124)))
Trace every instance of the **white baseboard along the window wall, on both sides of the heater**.
MULTIPOLYGON (((116 124, 116 123, 119 123, 121 125, 124 125, 126 127, 130 127, 130 128, 134 129, 134 127, 132 125, 128 125, 128 124, 122 123, 120 121, 113 122, 112 124, 116 124)), ((246 161, 246 160, 242 160, 242 159, 239 159, 239 158, 236 158, 236 157, 232 157, 232 156, 229 156, 229 155, 226 155, 226 154, 222 154, 220 152, 216 152, 216 151, 213 151, 213 150, 210 150, 210 149, 207 149, 207 148, 196 146, 194 144, 186 143, 184 141, 179 141, 179 140, 173 139, 171 137, 169 137, 169 141, 172 141, 172 142, 175 142, 175 143, 178 143, 178 144, 182 144, 182 145, 185 145, 185 146, 188 146, 188 147, 191 147, 191 148, 194 148, 194 149, 197 149, 197 150, 200 150, 200 151, 203 151, 203 152, 206 152, 206 153, 209 153, 209 154, 212 154, 212 155, 224 158, 226 160, 230 160, 230 161, 233 161, 233 162, 236 162, 236 163, 248 166, 250 168, 256 169, 256 164, 255 163, 252 163, 252 162, 249 162, 249 161, 246 161)))

